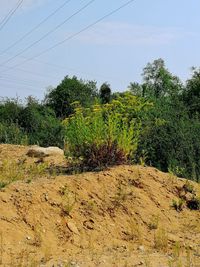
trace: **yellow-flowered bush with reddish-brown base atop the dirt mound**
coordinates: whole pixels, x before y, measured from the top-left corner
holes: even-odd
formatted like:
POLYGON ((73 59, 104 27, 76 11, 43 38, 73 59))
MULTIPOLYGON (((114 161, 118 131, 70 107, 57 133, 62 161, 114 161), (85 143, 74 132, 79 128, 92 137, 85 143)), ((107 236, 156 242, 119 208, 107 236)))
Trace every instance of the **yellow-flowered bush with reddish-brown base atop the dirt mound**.
POLYGON ((82 167, 101 169, 134 158, 139 125, 111 111, 109 105, 76 108, 64 124, 66 153, 78 159, 82 167))

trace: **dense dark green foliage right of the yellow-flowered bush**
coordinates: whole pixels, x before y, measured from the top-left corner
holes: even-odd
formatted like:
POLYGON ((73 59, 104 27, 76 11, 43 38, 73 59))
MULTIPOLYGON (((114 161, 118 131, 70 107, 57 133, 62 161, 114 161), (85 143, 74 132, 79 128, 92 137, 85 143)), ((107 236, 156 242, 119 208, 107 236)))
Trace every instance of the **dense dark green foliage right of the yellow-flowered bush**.
POLYGON ((181 100, 166 97, 154 100, 143 116, 138 158, 146 151, 147 164, 198 181, 200 121, 189 117, 181 100))

